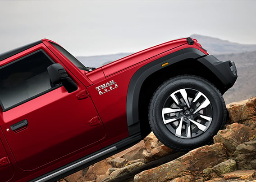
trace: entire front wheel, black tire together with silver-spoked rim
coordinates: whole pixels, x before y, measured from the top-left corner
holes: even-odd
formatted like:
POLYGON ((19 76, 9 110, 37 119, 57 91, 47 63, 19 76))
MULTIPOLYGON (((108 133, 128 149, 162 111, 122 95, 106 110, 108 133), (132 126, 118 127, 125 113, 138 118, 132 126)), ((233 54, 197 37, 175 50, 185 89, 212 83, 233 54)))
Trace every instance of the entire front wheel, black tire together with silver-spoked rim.
POLYGON ((155 136, 177 151, 210 144, 224 127, 226 106, 208 80, 181 75, 162 83, 149 104, 149 123, 155 136))

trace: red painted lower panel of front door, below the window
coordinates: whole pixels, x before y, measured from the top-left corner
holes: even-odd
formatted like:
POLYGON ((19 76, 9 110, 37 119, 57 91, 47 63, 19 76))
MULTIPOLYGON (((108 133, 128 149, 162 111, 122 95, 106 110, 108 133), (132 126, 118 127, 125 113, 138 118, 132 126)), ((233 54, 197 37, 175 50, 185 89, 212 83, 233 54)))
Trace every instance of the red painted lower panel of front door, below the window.
POLYGON ((104 138, 103 124, 89 123, 98 117, 91 98, 77 99, 81 90, 68 93, 59 87, 3 113, 7 128, 27 120, 23 130, 4 131, 22 169, 35 169, 104 138))

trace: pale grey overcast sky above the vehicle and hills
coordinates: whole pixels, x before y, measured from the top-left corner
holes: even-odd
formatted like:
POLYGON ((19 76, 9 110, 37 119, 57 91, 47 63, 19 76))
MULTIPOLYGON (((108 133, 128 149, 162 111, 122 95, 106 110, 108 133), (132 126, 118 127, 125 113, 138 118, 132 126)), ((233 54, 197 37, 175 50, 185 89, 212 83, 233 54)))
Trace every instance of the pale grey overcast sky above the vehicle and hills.
POLYGON ((0 0, 0 53, 43 38, 74 56, 137 52, 192 34, 256 44, 255 8, 256 0, 0 0))

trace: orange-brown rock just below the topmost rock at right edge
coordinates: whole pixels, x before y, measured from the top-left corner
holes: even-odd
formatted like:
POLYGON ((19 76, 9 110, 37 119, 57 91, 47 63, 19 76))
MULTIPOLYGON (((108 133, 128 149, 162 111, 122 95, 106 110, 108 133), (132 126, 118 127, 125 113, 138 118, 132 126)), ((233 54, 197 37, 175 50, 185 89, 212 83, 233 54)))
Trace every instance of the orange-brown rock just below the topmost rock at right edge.
POLYGON ((256 130, 251 127, 233 123, 227 126, 225 130, 219 130, 214 136, 214 143, 224 143, 229 154, 232 155, 239 144, 253 140, 255 136, 256 130))

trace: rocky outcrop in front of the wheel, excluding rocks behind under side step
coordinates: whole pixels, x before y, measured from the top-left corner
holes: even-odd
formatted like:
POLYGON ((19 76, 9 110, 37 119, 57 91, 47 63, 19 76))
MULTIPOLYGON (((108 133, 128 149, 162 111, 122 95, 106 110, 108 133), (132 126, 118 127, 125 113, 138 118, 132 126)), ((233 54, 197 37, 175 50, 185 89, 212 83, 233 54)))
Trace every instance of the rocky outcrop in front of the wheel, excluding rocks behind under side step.
POLYGON ((143 171, 134 182, 256 180, 256 97, 228 104, 227 109, 230 125, 214 137, 215 144, 143 171))

